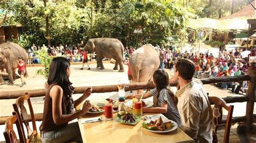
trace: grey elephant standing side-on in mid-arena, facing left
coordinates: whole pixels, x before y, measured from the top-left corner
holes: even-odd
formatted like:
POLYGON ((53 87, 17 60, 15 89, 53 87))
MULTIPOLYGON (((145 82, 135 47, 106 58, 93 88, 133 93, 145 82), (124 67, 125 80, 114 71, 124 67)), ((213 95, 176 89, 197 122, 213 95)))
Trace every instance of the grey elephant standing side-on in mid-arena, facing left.
POLYGON ((89 39, 84 46, 85 51, 90 53, 96 52, 97 54, 97 68, 105 69, 102 63, 104 58, 116 60, 113 70, 124 72, 123 58, 124 58, 124 46, 122 42, 114 38, 96 38, 89 39))

